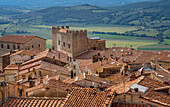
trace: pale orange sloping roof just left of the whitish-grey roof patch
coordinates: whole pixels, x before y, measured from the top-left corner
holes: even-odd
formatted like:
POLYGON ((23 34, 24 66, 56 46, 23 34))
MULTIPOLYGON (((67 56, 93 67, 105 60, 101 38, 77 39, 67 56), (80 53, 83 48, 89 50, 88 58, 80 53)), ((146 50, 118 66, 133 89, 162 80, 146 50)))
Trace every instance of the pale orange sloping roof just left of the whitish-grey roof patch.
MULTIPOLYGON (((128 92, 134 83, 139 83, 142 79, 144 79, 144 76, 141 76, 133 81, 125 81, 125 92, 128 92)), ((108 88, 108 90, 116 91, 117 94, 122 94, 124 93, 124 84, 122 82, 116 86, 111 86, 108 88)))

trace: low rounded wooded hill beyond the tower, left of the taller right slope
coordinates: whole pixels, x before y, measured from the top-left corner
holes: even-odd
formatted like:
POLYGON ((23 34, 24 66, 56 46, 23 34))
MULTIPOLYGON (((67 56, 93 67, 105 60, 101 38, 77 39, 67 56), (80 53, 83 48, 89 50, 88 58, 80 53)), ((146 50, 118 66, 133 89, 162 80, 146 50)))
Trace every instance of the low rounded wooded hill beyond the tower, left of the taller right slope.
POLYGON ((58 24, 58 23, 103 23, 105 16, 111 16, 109 9, 91 6, 88 4, 70 7, 55 6, 36 12, 13 17, 20 19, 24 23, 58 24))

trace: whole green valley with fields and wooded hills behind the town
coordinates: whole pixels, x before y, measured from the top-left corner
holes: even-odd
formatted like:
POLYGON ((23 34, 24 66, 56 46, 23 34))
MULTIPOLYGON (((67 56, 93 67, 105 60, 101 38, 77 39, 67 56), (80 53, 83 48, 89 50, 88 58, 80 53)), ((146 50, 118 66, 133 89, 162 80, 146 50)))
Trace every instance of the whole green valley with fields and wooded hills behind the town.
POLYGON ((148 49, 170 49, 169 5, 170 0, 109 8, 90 4, 49 8, 1 6, 0 32, 39 35, 50 40, 47 35, 51 35, 51 26, 70 25, 72 29, 88 29, 89 36, 116 40, 114 43, 108 41, 108 46, 126 40, 130 43, 123 46, 134 44, 136 48, 142 46, 142 49, 145 45, 148 49), (143 43, 138 45, 140 42, 143 43))

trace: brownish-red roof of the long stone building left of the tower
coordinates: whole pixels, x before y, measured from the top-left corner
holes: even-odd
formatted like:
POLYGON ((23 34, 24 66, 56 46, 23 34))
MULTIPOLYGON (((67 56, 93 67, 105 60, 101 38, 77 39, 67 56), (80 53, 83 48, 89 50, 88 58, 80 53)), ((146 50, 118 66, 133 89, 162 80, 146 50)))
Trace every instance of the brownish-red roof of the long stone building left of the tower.
MULTIPOLYGON (((26 36, 26 35, 5 35, 0 38, 1 42, 11 42, 11 43, 26 43, 33 38, 40 38, 38 36, 26 36)), ((43 38, 40 38, 43 39, 43 38)), ((46 40, 46 39, 43 39, 46 40)))

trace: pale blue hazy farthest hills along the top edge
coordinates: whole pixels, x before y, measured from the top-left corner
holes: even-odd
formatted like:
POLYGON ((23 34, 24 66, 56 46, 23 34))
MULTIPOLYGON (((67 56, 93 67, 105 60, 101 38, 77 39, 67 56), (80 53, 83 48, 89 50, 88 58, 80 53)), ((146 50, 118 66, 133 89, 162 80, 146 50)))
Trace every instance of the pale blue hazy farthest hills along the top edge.
POLYGON ((0 0, 0 4, 27 7, 75 6, 81 4, 115 6, 141 1, 149 0, 0 0))

